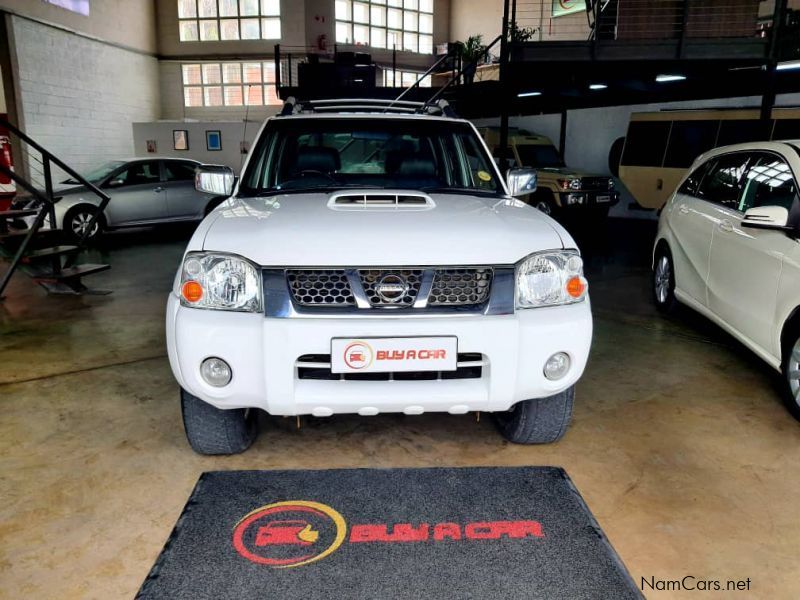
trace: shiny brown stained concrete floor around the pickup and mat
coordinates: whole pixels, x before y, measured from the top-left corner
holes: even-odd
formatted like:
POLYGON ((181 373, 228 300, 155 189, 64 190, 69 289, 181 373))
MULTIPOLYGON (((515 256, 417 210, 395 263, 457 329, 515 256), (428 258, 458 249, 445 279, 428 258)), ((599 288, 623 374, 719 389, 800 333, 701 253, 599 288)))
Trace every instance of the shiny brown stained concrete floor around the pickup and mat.
POLYGON ((47 297, 18 276, 0 303, 0 598, 132 597, 205 470, 466 465, 566 468, 637 584, 750 578, 737 597, 800 597, 800 425, 730 337, 655 313, 652 223, 582 244, 595 341, 558 444, 510 445, 473 415, 264 418, 229 458, 190 450, 165 356, 188 235, 108 236, 94 258, 113 267, 87 283, 110 296, 47 297))

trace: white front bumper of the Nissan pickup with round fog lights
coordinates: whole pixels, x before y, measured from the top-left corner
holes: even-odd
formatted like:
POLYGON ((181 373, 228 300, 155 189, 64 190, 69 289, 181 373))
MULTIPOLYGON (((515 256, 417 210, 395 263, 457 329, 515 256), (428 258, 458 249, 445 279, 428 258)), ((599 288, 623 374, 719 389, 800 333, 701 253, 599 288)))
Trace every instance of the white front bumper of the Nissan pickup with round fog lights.
POLYGON ((575 384, 591 338, 588 298, 511 315, 413 318, 266 318, 187 308, 174 293, 167 304, 167 348, 178 383, 217 408, 253 407, 273 415, 507 410, 520 400, 551 396, 575 384), (484 356, 482 376, 427 381, 298 377, 297 359, 330 353, 332 338, 409 336, 456 336, 459 353, 484 356), (542 369, 556 352, 566 352, 571 367, 562 379, 550 381, 542 369), (200 377, 200 363, 211 356, 231 366, 233 379, 224 388, 200 377))

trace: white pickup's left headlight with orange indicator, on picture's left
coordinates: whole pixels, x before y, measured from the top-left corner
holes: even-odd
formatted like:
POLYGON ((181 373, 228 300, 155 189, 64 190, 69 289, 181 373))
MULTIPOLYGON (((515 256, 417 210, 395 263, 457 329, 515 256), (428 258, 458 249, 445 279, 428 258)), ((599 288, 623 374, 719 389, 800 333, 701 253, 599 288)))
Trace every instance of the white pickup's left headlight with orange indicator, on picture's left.
POLYGON ((190 252, 183 260, 180 297, 183 306, 258 312, 261 277, 238 256, 190 252))

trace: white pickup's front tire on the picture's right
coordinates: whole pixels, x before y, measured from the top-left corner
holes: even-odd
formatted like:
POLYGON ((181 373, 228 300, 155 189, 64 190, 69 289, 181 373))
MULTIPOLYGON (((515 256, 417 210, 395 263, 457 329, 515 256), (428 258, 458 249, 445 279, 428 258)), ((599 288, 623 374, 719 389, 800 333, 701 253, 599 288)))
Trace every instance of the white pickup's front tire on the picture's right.
POLYGON ((495 421, 500 433, 515 444, 550 444, 557 442, 572 420, 575 386, 555 396, 523 400, 495 421))

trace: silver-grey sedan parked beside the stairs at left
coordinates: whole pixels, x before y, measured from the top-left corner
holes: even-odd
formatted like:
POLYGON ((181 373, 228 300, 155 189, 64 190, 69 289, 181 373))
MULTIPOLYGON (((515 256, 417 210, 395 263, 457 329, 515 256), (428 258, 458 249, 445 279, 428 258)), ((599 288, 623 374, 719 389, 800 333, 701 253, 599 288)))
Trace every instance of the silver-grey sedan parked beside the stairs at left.
MULTIPOLYGON (((88 239, 107 229, 202 220, 225 198, 195 189, 199 166, 188 159, 136 158, 112 160, 86 173, 87 181, 111 196, 88 239)), ((80 238, 100 198, 71 179, 62 182, 55 196, 60 196, 55 204, 57 227, 80 238)))

